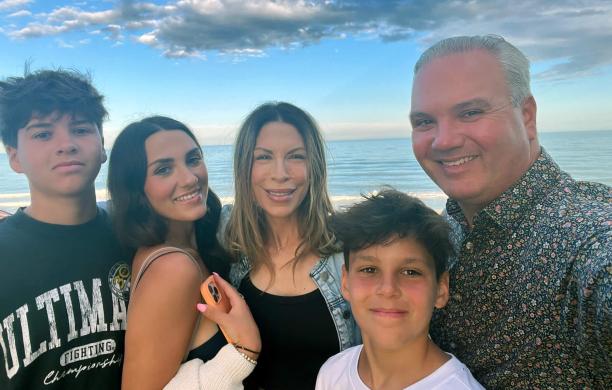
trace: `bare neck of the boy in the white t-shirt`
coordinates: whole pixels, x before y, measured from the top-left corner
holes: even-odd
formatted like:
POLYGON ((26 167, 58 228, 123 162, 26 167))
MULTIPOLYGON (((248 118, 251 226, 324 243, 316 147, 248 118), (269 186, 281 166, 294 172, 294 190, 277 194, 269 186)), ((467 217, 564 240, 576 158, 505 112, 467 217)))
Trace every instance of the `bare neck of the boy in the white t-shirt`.
POLYGON ((371 389, 405 388, 427 377, 450 357, 429 337, 388 349, 364 337, 358 372, 371 389))

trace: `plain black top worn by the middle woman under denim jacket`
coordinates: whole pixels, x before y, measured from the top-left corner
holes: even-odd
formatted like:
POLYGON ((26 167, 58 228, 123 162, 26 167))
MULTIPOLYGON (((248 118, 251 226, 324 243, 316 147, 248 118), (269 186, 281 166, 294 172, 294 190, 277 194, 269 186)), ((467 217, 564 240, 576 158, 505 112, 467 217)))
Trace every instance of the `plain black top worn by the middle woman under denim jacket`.
POLYGON ((259 326, 262 349, 245 389, 314 389, 319 368, 340 351, 321 292, 284 297, 259 290, 249 277, 239 291, 259 326))

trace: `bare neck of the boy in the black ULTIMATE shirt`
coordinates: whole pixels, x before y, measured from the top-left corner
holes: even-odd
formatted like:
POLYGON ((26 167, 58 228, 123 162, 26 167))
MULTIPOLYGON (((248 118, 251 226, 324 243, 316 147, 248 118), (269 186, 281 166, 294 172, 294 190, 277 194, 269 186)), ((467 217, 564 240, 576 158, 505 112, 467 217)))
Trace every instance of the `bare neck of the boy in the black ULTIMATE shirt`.
POLYGON ((96 193, 92 187, 78 196, 49 197, 32 192, 31 204, 25 209, 30 217, 56 225, 80 225, 97 213, 96 193))

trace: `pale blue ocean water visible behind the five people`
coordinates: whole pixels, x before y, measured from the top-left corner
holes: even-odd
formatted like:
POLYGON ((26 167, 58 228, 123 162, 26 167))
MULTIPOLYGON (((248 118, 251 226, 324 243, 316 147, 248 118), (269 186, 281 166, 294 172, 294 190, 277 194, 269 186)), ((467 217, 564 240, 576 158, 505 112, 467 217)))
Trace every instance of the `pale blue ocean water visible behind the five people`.
MULTIPOLYGON (((561 168, 574 178, 612 186, 612 131, 540 133, 540 143, 561 168)), ((328 185, 336 206, 353 203, 361 193, 382 185, 421 198, 441 210, 446 196, 415 160, 409 138, 331 141, 328 148, 328 185)), ((232 146, 204 145, 210 187, 224 203, 233 199, 232 146)), ((106 197, 107 164, 96 180, 98 198, 106 197)), ((0 154, 0 209, 15 211, 29 203, 28 184, 0 154)))

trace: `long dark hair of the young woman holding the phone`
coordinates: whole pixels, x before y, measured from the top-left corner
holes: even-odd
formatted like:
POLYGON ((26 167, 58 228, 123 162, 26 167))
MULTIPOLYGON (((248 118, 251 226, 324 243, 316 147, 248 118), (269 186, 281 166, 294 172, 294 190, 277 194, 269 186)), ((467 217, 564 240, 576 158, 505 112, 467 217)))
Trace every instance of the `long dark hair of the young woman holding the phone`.
MULTIPOLYGON (((146 140, 164 130, 180 130, 198 146, 193 132, 183 123, 164 116, 152 116, 129 124, 121 131, 111 150, 108 163, 110 212, 119 240, 124 246, 136 249, 163 243, 168 223, 147 199, 144 185, 147 176, 146 140)), ((221 200, 209 189, 206 215, 195 221, 198 250, 202 258, 224 256, 217 238, 221 214, 221 200)), ((213 259, 213 260, 214 260, 213 259)))

